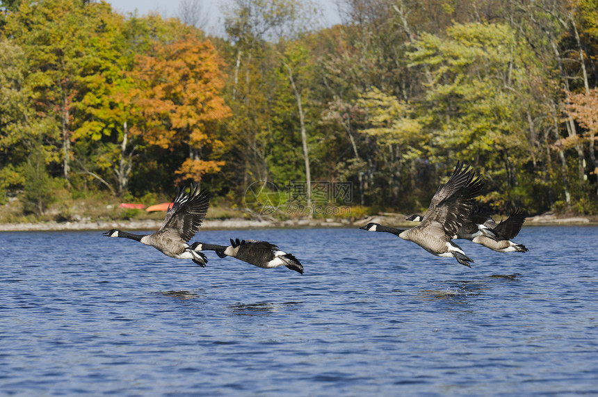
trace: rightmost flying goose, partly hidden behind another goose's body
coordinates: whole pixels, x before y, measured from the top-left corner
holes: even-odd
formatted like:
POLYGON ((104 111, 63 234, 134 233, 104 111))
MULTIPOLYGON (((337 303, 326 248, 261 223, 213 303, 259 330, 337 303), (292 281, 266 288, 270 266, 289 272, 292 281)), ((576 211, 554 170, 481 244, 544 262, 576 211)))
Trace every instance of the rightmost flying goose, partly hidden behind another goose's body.
MULTIPOLYGON (((480 211, 474 210, 469 215, 462 227, 457 230, 454 238, 464 238, 473 243, 498 252, 526 252, 528 249, 523 244, 510 241, 519 234, 526 216, 520 209, 513 209, 506 220, 496 225, 491 216, 485 216, 480 211)), ((421 220, 421 215, 414 214, 407 220, 421 220)))

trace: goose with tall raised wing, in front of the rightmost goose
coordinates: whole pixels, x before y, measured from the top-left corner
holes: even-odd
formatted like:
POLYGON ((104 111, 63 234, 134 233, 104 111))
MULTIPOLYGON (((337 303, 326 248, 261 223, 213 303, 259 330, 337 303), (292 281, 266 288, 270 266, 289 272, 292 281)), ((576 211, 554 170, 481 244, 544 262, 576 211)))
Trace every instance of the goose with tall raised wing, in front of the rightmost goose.
POLYGON ((476 177, 474 170, 469 166, 463 168, 463 164, 458 162, 451 178, 444 186, 439 186, 432 197, 428 211, 419 225, 411 229, 396 229, 370 222, 360 229, 395 234, 403 240, 416 243, 430 254, 455 257, 460 264, 471 267, 469 263, 474 260, 467 257, 451 239, 471 212, 474 199, 482 190, 483 184, 481 175, 476 177))

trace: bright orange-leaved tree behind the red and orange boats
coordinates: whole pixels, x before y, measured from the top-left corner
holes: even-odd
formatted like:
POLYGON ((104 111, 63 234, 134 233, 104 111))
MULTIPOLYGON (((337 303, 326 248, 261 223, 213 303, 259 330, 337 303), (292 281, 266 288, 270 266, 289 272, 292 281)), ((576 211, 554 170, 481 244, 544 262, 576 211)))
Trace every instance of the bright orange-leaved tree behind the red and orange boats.
POLYGON ((216 136, 219 120, 230 115, 220 96, 225 81, 224 63, 209 41, 192 35, 171 44, 155 44, 151 55, 138 56, 132 90, 140 122, 131 134, 147 145, 188 150, 188 158, 176 171, 177 181, 200 180, 218 172, 223 143, 216 136))

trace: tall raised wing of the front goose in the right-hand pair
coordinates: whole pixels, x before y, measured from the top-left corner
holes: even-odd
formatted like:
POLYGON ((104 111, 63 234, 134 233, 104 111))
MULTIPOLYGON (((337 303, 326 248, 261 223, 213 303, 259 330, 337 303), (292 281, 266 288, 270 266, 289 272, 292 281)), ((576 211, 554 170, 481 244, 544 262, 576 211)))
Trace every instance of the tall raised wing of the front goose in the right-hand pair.
POLYGON ((432 197, 426 215, 416 228, 425 229, 426 233, 438 238, 455 236, 482 190, 483 177, 475 176, 474 170, 469 166, 463 168, 463 163, 458 162, 451 178, 432 197))

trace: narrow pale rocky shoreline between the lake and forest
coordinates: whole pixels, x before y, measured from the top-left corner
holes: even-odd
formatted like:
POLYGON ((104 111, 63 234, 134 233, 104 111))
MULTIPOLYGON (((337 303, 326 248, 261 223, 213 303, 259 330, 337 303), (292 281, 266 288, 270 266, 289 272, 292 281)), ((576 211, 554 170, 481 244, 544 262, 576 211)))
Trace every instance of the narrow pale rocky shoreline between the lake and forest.
MULTIPOLYGON (((204 220, 202 229, 263 229, 276 227, 358 227, 367 222, 383 225, 409 226, 405 214, 380 213, 359 220, 348 219, 291 219, 291 220, 248 220, 225 219, 204 220)), ((4 223, 0 224, 0 232, 45 232, 65 230, 156 230, 162 220, 80 220, 76 222, 39 222, 39 223, 4 223)), ((592 216, 558 216, 554 213, 543 213, 526 219, 526 226, 532 225, 598 225, 598 218, 592 216)))

